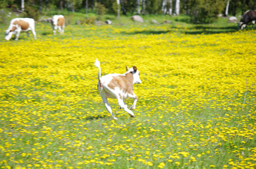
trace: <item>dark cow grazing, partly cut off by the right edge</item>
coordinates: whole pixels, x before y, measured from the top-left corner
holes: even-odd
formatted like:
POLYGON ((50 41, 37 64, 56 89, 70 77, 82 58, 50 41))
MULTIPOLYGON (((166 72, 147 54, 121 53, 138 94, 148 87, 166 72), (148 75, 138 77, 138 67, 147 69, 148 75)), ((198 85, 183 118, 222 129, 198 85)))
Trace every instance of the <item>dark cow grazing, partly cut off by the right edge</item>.
POLYGON ((238 23, 238 28, 243 29, 247 26, 249 22, 253 23, 253 26, 256 21, 256 10, 246 11, 241 18, 240 22, 238 23))

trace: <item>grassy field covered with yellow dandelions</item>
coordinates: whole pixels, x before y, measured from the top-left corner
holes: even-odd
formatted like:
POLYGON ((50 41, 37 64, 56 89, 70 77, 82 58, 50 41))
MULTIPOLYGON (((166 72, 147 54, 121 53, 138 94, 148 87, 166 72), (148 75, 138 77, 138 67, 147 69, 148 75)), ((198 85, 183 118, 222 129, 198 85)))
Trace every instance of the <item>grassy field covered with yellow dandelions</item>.
POLYGON ((145 18, 0 34, 0 169, 256 168, 256 29, 145 18), (140 71, 135 117, 106 111, 96 58, 102 75, 140 71))

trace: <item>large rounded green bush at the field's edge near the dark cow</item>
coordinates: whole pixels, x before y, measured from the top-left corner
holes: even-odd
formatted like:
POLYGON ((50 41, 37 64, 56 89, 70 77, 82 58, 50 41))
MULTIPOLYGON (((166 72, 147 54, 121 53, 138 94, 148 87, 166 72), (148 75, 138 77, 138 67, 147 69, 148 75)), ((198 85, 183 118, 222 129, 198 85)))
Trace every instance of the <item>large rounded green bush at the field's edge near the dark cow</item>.
POLYGON ((192 23, 209 24, 216 21, 224 9, 224 0, 192 0, 189 6, 192 23))

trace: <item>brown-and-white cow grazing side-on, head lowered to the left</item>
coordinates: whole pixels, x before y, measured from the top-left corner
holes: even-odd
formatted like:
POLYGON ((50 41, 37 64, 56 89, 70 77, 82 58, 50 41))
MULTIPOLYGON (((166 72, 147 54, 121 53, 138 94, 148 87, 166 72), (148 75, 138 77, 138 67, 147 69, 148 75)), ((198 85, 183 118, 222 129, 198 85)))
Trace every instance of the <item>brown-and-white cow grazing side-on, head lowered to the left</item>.
POLYGON ((34 30, 34 20, 32 18, 15 18, 12 19, 9 25, 9 28, 5 30, 5 40, 10 40, 12 34, 16 34, 15 40, 19 39, 19 35, 21 31, 26 31, 29 36, 29 30, 32 31, 34 35, 34 39, 36 39, 36 33, 34 30))

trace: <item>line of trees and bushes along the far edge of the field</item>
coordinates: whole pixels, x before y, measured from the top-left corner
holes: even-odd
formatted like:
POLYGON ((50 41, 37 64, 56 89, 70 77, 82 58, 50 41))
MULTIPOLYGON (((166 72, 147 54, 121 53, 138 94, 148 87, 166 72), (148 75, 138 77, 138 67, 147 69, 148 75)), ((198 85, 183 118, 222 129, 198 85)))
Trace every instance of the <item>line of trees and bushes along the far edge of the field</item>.
POLYGON ((0 0, 0 8, 22 9, 22 4, 44 10, 103 11, 103 14, 188 15, 192 23, 212 23, 218 14, 242 15, 256 9, 256 0, 0 0))

